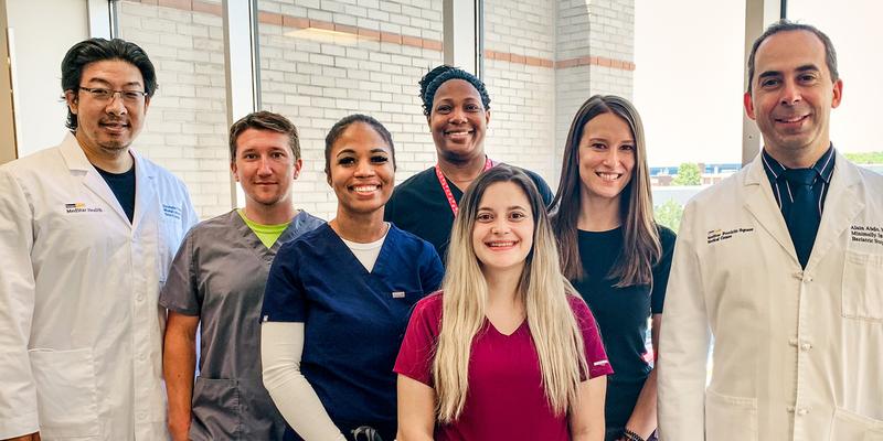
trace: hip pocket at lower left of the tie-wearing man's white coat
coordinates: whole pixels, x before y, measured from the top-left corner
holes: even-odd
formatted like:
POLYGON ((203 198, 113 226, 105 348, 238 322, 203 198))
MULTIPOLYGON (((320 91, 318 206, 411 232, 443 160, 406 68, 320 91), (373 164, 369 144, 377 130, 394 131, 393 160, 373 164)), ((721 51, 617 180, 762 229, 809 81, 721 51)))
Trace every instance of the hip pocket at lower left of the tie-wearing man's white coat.
POLYGON ((705 391, 705 439, 757 440, 757 399, 705 391))

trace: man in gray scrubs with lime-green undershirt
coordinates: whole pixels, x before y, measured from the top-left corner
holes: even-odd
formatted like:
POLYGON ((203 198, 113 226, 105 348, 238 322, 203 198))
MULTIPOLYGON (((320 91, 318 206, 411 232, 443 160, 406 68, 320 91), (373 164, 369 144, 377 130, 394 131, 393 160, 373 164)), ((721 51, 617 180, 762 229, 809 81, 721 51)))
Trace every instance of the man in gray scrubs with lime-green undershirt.
POLYGON ((230 151, 245 208, 190 230, 160 295, 169 309, 163 370, 174 440, 286 437, 260 379, 260 305, 276 251, 322 220, 291 203, 301 160, 288 119, 268 111, 242 118, 230 129, 230 151))

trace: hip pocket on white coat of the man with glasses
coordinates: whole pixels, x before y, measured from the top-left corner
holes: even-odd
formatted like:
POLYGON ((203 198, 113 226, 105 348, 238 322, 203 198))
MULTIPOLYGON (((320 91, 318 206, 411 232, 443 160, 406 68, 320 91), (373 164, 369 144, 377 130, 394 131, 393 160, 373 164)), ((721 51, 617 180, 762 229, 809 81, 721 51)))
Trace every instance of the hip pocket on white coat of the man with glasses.
POLYGON ((92 348, 28 351, 43 439, 97 437, 98 391, 92 348))

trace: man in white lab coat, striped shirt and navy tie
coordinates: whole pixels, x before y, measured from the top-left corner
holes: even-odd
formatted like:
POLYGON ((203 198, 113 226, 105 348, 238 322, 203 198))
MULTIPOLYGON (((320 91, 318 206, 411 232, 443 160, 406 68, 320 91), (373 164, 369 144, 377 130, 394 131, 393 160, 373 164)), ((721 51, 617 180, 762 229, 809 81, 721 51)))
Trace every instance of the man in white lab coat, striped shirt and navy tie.
POLYGON ((688 203, 678 234, 660 439, 883 440, 883 176, 831 144, 833 45, 778 22, 748 84, 764 149, 688 203))

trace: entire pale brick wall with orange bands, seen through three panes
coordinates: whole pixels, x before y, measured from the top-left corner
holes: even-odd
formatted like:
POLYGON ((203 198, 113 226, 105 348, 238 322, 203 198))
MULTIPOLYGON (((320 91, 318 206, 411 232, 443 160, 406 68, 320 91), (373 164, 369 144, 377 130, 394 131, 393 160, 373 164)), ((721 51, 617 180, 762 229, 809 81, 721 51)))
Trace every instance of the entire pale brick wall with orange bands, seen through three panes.
MULTIPOLYGON (((298 207, 330 218, 323 139, 352 112, 392 132, 402 182, 435 163, 417 80, 443 60, 440 0, 259 0, 262 106, 301 132, 298 207)), ((634 0, 485 0, 486 148, 553 187, 571 119, 597 93, 631 97, 634 0)), ((121 35, 158 68, 138 149, 188 184, 202 217, 230 207, 220 0, 124 0, 121 35)))

